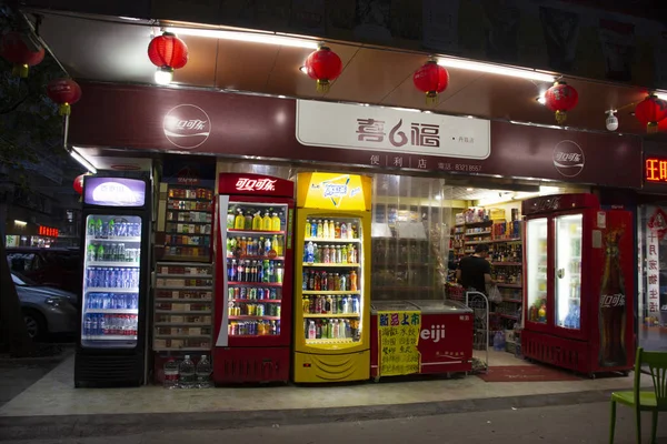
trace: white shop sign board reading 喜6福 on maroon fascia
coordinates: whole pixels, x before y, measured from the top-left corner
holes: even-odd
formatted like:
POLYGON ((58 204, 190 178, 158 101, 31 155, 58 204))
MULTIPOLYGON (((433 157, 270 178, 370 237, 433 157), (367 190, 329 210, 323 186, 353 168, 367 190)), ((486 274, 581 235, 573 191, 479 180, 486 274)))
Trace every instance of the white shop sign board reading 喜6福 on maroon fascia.
POLYGON ((297 140, 308 147, 482 160, 490 128, 488 120, 297 100, 297 140))

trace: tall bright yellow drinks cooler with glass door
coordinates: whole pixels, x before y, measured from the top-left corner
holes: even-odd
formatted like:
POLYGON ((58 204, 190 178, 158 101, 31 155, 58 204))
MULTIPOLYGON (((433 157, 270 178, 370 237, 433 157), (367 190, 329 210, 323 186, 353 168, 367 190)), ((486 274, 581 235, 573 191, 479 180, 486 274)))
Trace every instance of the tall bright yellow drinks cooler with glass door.
POLYGON ((370 185, 298 174, 295 382, 370 377, 370 185))

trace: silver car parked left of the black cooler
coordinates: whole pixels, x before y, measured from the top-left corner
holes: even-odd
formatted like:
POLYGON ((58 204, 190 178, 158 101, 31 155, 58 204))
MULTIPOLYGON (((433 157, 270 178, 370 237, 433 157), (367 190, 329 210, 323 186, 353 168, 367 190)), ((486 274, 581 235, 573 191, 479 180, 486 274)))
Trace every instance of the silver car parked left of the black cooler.
POLYGON ((40 285, 19 273, 11 279, 17 287, 23 320, 30 337, 41 339, 49 334, 77 332, 77 295, 64 290, 40 285))

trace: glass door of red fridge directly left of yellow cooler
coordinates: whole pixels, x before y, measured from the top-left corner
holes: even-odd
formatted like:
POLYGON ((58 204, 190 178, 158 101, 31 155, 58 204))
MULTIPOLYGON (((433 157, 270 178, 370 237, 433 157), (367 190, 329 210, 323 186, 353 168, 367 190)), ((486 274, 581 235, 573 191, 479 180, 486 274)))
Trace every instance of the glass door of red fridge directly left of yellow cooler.
POLYGON ((280 334, 288 205, 229 202, 227 332, 230 337, 280 334))

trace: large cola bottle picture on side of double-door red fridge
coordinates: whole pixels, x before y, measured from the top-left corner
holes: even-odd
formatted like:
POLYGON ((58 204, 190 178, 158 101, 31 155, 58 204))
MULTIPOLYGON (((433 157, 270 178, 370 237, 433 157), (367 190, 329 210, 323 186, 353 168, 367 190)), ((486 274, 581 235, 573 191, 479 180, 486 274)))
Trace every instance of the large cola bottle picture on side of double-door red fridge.
POLYGON ((623 230, 615 230, 605 236, 605 270, 600 289, 599 365, 613 367, 626 364, 626 295, 618 241, 623 230))

